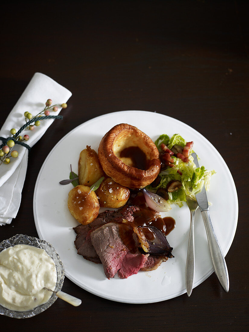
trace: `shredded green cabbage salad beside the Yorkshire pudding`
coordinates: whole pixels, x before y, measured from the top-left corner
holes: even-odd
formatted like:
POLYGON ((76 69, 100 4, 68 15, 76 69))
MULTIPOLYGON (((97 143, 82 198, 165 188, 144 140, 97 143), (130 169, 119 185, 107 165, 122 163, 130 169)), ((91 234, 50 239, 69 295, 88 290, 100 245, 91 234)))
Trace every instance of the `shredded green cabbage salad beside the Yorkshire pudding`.
MULTIPOLYGON (((171 138, 168 135, 163 134, 155 141, 159 152, 161 152, 161 144, 164 143, 169 149, 174 145, 180 145, 184 147, 186 145, 186 140, 180 134, 174 134, 171 138)), ((174 159, 173 164, 175 167, 169 167, 165 170, 161 170, 159 173, 160 182, 156 187, 150 184, 146 189, 156 192, 159 188, 166 188, 167 184, 171 180, 179 180, 182 183, 182 187, 175 191, 169 192, 168 203, 176 203, 180 207, 183 206, 183 202, 186 202, 186 195, 191 196, 195 199, 195 194, 199 192, 203 186, 208 191, 210 186, 210 178, 215 173, 214 170, 210 171, 205 169, 204 166, 196 167, 191 153, 194 152, 193 149, 190 151, 189 162, 183 162, 180 158, 176 156, 171 156, 174 159), (182 175, 177 173, 180 170, 182 175)))

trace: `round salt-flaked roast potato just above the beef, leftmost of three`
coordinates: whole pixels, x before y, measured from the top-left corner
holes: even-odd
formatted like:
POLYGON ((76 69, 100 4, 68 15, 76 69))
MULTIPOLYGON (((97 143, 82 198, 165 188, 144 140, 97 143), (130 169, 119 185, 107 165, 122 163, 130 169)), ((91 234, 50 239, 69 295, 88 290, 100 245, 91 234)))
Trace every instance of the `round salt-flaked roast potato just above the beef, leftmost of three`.
POLYGON ((76 186, 68 193, 67 206, 79 223, 87 225, 99 214, 99 201, 94 191, 87 186, 76 186))

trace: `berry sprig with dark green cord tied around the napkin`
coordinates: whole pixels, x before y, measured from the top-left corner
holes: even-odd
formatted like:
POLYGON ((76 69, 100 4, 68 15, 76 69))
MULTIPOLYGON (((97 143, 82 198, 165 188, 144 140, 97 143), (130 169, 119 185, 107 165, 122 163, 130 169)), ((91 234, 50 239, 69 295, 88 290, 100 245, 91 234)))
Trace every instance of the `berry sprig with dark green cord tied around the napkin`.
POLYGON ((20 144, 22 146, 25 146, 27 149, 31 149, 31 147, 25 143, 25 141, 29 140, 29 135, 25 134, 24 136, 21 136, 22 132, 25 128, 28 128, 29 130, 34 130, 35 126, 39 126, 41 124, 42 120, 45 119, 62 119, 63 117, 61 115, 50 115, 50 111, 53 112, 58 111, 58 106, 64 108, 67 108, 67 104, 63 103, 61 105, 55 104, 52 105, 52 100, 48 99, 45 103, 45 108, 38 113, 34 118, 33 115, 29 112, 25 112, 25 124, 16 131, 15 128, 12 128, 10 130, 10 133, 12 134, 11 137, 1 137, 3 144, 0 145, 0 166, 2 163, 9 164, 10 158, 17 158, 18 157, 18 151, 13 150, 15 144, 20 144))

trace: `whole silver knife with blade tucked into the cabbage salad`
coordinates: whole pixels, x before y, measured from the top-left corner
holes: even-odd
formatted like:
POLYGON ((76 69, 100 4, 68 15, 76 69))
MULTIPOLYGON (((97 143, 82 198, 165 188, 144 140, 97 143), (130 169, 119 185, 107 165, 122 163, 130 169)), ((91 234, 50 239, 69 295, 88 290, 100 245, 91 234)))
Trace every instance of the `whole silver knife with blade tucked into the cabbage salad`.
MULTIPOLYGON (((196 164, 196 167, 199 167, 196 153, 192 153, 191 155, 194 158, 194 163, 196 164)), ((222 288, 226 292, 228 292, 229 278, 228 278, 226 262, 225 262, 225 258, 222 253, 222 250, 220 248, 219 242, 214 233, 212 221, 211 221, 210 214, 209 214, 205 186, 203 186, 202 191, 200 193, 197 193, 195 196, 196 196, 196 201, 199 205, 200 211, 202 213, 204 225, 205 225, 206 232, 207 232, 207 241, 208 241, 210 255, 211 255, 211 259, 212 259, 212 263, 213 263, 214 272, 215 272, 216 276, 218 277, 222 288)))

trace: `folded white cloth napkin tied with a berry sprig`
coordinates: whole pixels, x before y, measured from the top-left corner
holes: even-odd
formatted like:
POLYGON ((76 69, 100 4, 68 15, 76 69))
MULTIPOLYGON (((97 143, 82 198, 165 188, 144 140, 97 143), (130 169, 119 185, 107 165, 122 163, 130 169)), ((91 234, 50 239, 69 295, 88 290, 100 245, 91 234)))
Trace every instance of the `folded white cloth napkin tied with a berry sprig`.
MULTIPOLYGON (((0 130, 0 136, 10 137, 10 129, 19 130, 25 124, 24 113, 30 112, 33 117, 40 113, 47 99, 52 99, 52 105, 66 103, 71 97, 71 92, 52 80, 50 77, 35 73, 27 88, 19 98, 18 102, 10 112, 5 123, 0 130)), ((50 115, 58 115, 57 112, 50 111, 50 115)), ((40 126, 34 130, 25 129, 21 134, 29 135, 29 140, 24 141, 33 146, 44 134, 47 128, 53 123, 54 119, 45 119, 41 121, 40 126)), ((63 121, 56 120, 56 121, 63 121)), ((0 145, 2 141, 0 140, 0 145)), ((44 142, 44 144, 46 144, 44 142)), ((28 149, 19 144, 15 144, 15 150, 19 155, 17 158, 11 158, 9 164, 0 166, 0 225, 10 224, 12 218, 15 218, 21 204, 21 195, 28 165, 28 149)))

